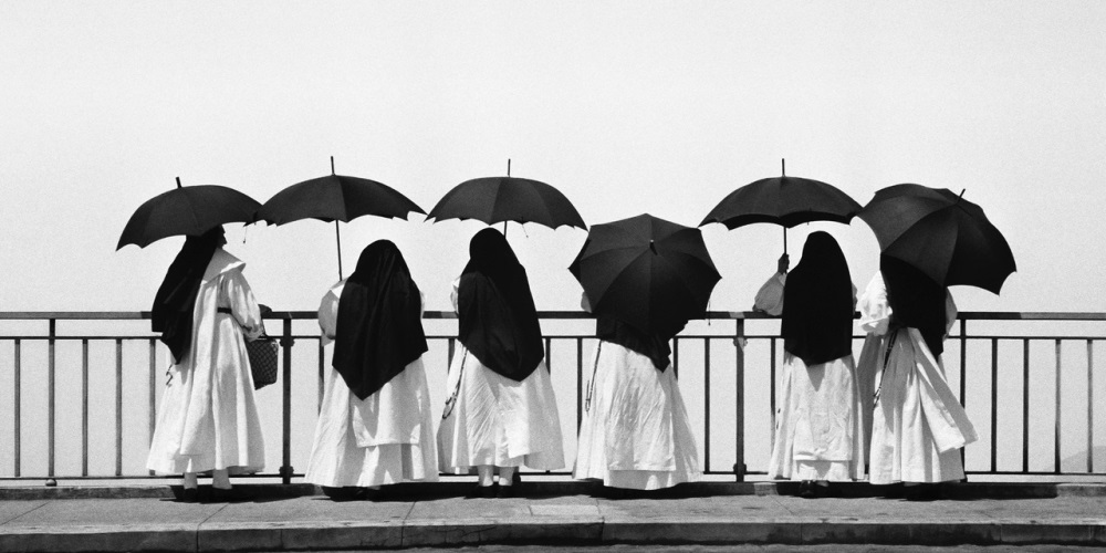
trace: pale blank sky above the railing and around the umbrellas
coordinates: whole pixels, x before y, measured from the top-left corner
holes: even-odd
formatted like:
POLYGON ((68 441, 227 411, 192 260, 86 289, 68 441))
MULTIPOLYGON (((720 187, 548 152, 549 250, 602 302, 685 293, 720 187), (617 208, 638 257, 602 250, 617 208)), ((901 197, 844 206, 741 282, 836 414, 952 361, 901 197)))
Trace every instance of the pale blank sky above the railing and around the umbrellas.
MULTIPOLYGON (((0 2, 0 310, 148 309, 181 241, 116 252, 142 201, 177 176, 264 201, 333 155, 427 210, 511 158, 588 223, 695 226, 781 158, 862 205, 967 189, 1019 271, 1001 296, 956 289, 961 309, 1104 311, 1103 29, 1096 1, 0 2)), ((479 228, 363 218, 344 260, 392 238, 444 310, 479 228)), ((858 219, 791 231, 793 264, 820 228, 863 289, 878 251, 858 219)), ((229 231, 274 309, 336 279, 333 227, 229 231)), ((780 228, 703 233, 711 309, 748 309, 780 228)), ((584 237, 510 229, 539 309, 577 305, 584 237)))

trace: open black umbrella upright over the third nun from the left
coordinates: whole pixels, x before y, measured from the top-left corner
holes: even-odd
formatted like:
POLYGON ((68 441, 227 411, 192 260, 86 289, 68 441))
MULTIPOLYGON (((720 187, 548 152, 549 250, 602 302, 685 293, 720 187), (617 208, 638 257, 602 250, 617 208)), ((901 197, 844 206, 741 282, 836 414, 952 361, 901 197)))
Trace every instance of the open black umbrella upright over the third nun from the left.
POLYGON ((430 210, 429 219, 478 219, 488 225, 536 222, 551 229, 567 225, 587 229, 568 198, 545 182, 511 177, 483 177, 455 186, 430 210))

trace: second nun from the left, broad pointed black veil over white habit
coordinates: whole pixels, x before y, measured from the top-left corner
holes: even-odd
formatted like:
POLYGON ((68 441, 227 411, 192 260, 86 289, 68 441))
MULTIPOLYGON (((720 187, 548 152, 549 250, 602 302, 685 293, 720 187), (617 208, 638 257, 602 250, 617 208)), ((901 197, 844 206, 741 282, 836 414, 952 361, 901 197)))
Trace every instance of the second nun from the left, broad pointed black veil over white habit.
POLYGON ((334 343, 304 480, 335 499, 438 480, 422 294, 396 244, 368 244, 323 296, 323 345, 334 343))

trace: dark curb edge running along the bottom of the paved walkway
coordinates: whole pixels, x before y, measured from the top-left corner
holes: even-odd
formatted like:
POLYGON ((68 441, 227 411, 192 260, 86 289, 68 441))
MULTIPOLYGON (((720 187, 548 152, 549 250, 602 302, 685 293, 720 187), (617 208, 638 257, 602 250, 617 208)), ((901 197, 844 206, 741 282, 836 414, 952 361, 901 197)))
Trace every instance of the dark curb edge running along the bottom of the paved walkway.
POLYGON ((1103 522, 419 521, 0 529, 0 551, 306 551, 461 545, 1106 545, 1103 522))

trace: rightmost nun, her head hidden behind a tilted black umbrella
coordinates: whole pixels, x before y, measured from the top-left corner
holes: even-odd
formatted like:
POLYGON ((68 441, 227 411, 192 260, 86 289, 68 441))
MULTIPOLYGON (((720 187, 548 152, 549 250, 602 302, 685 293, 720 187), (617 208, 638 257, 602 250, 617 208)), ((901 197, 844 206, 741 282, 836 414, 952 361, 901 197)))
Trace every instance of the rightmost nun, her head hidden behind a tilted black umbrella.
POLYGON ((936 499, 936 487, 915 484, 962 480, 959 449, 978 438, 941 363, 957 316, 952 295, 909 264, 880 255, 860 314, 868 336, 859 372, 870 375, 875 404, 869 480, 905 482, 907 499, 936 499))

